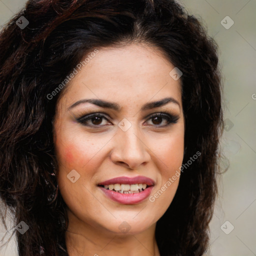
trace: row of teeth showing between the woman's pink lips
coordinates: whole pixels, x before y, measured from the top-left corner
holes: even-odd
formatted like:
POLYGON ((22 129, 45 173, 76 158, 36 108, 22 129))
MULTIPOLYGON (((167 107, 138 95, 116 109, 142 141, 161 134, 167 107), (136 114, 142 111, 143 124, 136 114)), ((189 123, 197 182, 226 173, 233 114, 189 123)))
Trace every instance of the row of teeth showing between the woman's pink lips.
POLYGON ((118 193, 133 194, 133 193, 142 192, 150 185, 147 185, 145 183, 138 183, 138 184, 109 184, 109 185, 99 185, 99 186, 104 187, 106 190, 112 190, 118 193))

